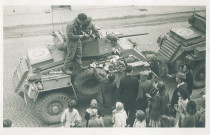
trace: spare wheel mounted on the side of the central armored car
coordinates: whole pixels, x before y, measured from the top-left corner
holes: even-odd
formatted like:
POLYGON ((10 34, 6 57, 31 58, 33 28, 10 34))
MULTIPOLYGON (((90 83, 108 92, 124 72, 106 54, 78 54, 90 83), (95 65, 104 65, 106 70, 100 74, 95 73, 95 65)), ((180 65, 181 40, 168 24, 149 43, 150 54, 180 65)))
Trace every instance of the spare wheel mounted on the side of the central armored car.
MULTIPOLYGON (((97 74, 101 77, 106 77, 106 72, 103 69, 96 69, 97 74)), ((100 85, 94 75, 93 69, 87 69, 75 76, 73 81, 74 88, 79 97, 90 99, 97 95, 100 85)))

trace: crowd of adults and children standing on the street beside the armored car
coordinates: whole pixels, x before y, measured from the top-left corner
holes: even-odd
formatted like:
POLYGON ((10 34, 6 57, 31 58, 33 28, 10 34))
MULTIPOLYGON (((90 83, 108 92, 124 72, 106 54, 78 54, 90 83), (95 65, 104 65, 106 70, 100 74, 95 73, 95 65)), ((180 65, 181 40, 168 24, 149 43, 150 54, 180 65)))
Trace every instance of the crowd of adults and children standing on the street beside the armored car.
MULTIPOLYGON (((114 74, 102 78, 94 71, 101 89, 86 110, 86 127, 105 127, 103 106, 113 108, 113 127, 205 127, 205 99, 198 110, 196 102, 190 98, 192 92, 184 73, 175 75, 177 87, 170 100, 165 82, 155 80, 149 72, 140 72, 137 78, 132 76, 132 66, 127 66, 126 76, 117 88, 114 74)), ((65 127, 81 126, 82 118, 75 105, 72 100, 62 115, 65 127)))

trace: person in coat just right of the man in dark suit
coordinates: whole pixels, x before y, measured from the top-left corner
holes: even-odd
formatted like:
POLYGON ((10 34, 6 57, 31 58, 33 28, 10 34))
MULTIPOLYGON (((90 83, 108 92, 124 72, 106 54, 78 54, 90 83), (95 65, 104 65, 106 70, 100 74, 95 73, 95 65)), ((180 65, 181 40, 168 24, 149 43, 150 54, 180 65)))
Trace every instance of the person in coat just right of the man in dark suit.
POLYGON ((147 71, 140 72, 139 88, 136 98, 137 110, 145 111, 148 105, 147 94, 149 94, 150 90, 153 88, 153 82, 147 79, 148 75, 149 72, 147 71))

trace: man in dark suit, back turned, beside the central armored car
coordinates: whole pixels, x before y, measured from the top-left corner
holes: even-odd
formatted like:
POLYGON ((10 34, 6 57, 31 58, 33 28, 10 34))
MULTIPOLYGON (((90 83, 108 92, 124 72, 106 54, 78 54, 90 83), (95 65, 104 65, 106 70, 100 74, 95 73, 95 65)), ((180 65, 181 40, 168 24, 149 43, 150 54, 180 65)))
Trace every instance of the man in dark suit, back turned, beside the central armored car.
POLYGON ((133 67, 126 67, 126 76, 120 80, 119 100, 124 104, 128 114, 127 124, 133 126, 135 120, 136 97, 138 93, 139 81, 133 75, 133 67))

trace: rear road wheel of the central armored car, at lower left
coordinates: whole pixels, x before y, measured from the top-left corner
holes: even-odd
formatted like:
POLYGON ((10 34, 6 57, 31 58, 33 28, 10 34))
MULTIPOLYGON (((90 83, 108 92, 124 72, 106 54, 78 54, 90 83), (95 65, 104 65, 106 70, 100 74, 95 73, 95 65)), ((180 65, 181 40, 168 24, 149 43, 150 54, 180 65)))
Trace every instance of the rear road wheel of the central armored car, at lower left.
POLYGON ((37 101, 35 106, 36 116, 46 124, 59 123, 69 101, 70 97, 65 93, 49 93, 37 101))

